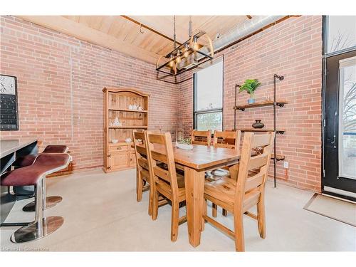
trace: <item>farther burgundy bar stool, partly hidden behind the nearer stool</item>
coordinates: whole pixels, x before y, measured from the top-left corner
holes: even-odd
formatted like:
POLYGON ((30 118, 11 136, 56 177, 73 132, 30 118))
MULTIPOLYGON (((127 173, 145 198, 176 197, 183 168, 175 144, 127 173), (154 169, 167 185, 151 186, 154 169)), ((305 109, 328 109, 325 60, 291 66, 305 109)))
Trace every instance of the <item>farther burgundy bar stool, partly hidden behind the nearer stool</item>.
MULTIPOLYGON (((46 148, 43 150, 41 154, 47 154, 47 153, 67 153, 68 152, 68 147, 66 145, 48 145, 46 148)), ((13 166, 17 168, 22 168, 29 166, 33 164, 35 161, 37 155, 26 155, 23 157, 19 157, 18 159, 15 160, 13 166)), ((45 192, 46 193, 46 192, 45 192)), ((62 197, 60 196, 51 196, 51 197, 46 197, 46 203, 45 203, 45 209, 49 209, 52 206, 56 206, 59 202, 62 201, 62 197)), ((26 206, 23 207, 23 211, 35 211, 35 201, 32 201, 31 203, 28 203, 26 206)))

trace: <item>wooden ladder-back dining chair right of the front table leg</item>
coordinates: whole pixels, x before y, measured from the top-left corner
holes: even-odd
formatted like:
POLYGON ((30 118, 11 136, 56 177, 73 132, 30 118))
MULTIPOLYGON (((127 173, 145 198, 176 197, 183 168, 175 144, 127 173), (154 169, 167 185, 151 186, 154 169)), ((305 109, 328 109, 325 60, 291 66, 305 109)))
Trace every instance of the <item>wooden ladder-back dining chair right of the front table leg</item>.
MULTIPOLYGON (((268 176, 268 167, 271 161, 274 133, 254 135, 246 133, 241 150, 239 162, 239 175, 237 181, 223 178, 216 182, 206 183, 204 198, 221 206, 234 214, 234 231, 207 216, 205 201, 204 220, 221 229, 224 233, 235 239, 236 251, 244 251, 244 214, 258 221, 258 231, 261 238, 266 238, 266 219, 264 194, 268 176), (260 147, 261 154, 251 156, 253 148, 260 147), (249 173, 252 175, 248 175, 249 173), (257 206, 257 214, 248 209, 257 206)), ((204 226, 202 226, 204 229, 204 226)))

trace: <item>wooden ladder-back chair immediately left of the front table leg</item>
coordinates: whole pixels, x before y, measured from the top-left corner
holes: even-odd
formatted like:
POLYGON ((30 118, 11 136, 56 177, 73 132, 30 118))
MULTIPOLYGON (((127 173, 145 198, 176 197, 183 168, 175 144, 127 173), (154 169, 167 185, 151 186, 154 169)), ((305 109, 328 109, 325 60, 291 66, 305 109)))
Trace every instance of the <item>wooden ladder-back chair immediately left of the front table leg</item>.
POLYGON ((171 240, 178 237, 178 226, 187 221, 187 215, 179 218, 179 203, 185 201, 184 176, 177 173, 174 164, 172 137, 169 132, 155 134, 145 132, 148 147, 148 163, 152 175, 153 205, 152 219, 157 219, 159 194, 172 203, 171 240), (159 166, 159 162, 167 164, 167 169, 159 166))

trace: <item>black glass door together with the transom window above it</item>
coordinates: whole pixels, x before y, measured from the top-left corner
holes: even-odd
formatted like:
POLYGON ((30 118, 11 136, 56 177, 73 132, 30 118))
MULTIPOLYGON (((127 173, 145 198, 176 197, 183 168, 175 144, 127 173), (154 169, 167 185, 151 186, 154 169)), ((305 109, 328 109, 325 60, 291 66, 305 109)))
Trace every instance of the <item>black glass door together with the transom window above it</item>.
POLYGON ((356 16, 323 16, 323 178, 356 201, 356 16))

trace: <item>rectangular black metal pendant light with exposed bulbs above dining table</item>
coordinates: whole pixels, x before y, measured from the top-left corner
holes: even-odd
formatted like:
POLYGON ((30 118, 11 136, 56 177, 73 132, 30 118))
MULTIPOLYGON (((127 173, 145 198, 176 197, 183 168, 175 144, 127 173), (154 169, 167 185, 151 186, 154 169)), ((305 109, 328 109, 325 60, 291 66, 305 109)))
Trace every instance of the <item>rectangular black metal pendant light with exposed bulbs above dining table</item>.
POLYGON ((211 38, 205 31, 199 31, 192 36, 192 16, 189 18, 189 39, 177 47, 176 41, 176 16, 173 19, 173 51, 166 56, 160 56, 156 63, 156 70, 167 75, 177 76, 187 70, 191 70, 206 61, 214 58, 214 47, 211 38), (205 46, 199 42, 199 38, 206 37, 206 48, 209 53, 201 52, 205 46), (203 58, 197 60, 197 53, 203 58), (165 58, 165 63, 159 65, 159 62, 165 58))

